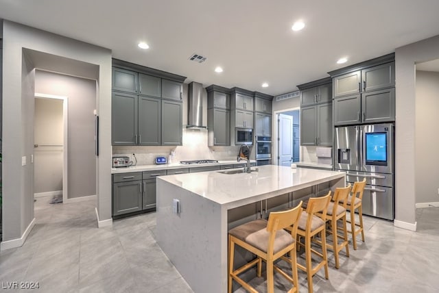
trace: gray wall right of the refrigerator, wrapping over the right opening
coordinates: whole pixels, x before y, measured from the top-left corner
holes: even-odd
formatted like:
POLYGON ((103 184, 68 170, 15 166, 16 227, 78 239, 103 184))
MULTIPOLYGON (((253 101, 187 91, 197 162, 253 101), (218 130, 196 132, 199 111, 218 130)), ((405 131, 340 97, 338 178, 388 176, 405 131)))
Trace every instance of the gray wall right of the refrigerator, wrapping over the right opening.
MULTIPOLYGON (((416 222, 416 73, 415 64, 439 58, 439 36, 395 50, 395 220, 416 222)), ((436 146, 431 146, 429 151, 436 146)))

